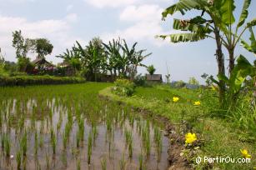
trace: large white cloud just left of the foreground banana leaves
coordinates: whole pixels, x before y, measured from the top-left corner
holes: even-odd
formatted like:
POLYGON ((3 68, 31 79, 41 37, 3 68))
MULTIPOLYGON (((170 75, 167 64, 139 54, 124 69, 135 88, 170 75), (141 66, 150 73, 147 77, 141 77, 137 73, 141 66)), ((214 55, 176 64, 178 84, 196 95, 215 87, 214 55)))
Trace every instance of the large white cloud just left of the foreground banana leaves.
POLYGON ((120 21, 132 22, 133 24, 123 30, 103 33, 103 40, 110 40, 113 37, 123 37, 131 41, 153 42, 154 45, 161 46, 166 43, 156 35, 166 34, 163 31, 161 13, 163 9, 158 5, 128 6, 120 14, 120 21))

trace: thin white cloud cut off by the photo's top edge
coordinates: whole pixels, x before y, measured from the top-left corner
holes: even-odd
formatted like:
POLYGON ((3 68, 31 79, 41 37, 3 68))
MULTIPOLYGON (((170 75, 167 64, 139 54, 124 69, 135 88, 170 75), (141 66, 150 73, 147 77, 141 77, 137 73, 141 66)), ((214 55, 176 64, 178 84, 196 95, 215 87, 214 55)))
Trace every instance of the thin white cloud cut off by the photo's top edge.
POLYGON ((123 7, 126 5, 133 4, 139 0, 84 0, 90 3, 94 7, 123 7))

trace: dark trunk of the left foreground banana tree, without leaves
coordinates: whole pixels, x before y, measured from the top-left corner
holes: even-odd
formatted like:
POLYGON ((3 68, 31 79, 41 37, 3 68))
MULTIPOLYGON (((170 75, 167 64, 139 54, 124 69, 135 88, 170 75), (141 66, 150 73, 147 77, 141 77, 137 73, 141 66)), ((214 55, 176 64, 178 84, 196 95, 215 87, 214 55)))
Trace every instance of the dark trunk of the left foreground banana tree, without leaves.
MULTIPOLYGON (((219 35, 219 30, 216 28, 214 33, 215 33, 216 44, 217 44, 216 57, 218 62, 218 75, 225 75, 225 63, 224 63, 222 43, 219 35)), ((218 83, 218 87, 219 87, 220 107, 223 108, 225 105, 225 91, 226 91, 225 82, 223 82, 223 80, 220 80, 218 83)))

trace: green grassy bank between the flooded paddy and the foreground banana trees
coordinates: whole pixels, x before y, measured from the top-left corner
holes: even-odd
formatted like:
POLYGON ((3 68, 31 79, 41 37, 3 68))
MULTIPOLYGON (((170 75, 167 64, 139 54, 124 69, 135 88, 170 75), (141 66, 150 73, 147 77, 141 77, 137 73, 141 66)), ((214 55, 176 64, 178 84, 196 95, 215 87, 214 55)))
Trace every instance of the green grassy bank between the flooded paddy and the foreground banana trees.
MULTIPOLYGON (((214 163, 213 167, 220 169, 253 169, 256 167, 255 141, 246 143, 239 140, 245 130, 241 130, 228 119, 213 117, 208 107, 216 103, 216 99, 199 97, 200 90, 176 89, 165 86, 138 87, 132 97, 114 95, 110 88, 99 92, 100 95, 111 97, 115 101, 125 102, 133 107, 143 108, 152 112, 152 117, 161 115, 170 122, 181 127, 181 120, 188 122, 188 127, 198 134, 198 138, 205 141, 199 156, 241 158, 240 149, 246 148, 252 155, 251 163, 214 163), (178 103, 172 102, 173 96, 180 97, 178 103), (201 101, 202 106, 193 106, 194 101, 201 101), (202 101, 203 100, 203 101, 202 101)), ((250 136, 252 137, 252 136, 250 136)), ((256 134, 253 135, 256 137, 256 134)), ((200 165, 198 166, 200 167, 200 165)))

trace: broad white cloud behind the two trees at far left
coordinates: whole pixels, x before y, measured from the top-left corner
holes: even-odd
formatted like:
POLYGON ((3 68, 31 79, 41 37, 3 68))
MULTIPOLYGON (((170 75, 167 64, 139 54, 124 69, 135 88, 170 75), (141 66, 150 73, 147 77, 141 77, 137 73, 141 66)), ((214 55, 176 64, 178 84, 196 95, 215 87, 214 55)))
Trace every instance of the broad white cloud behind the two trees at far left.
MULTIPOLYGON (((56 56, 62 53, 67 47, 73 46, 76 40, 84 42, 78 37, 73 37, 68 18, 59 20, 41 20, 30 22, 26 18, 5 17, 0 15, 0 47, 3 53, 6 53, 6 59, 15 60, 15 49, 12 47, 12 32, 22 30, 23 37, 37 38, 46 37, 53 43, 53 53, 56 56)), ((33 57, 33 56, 31 56, 33 57)), ((53 62, 59 62, 59 59, 49 57, 53 62)))

